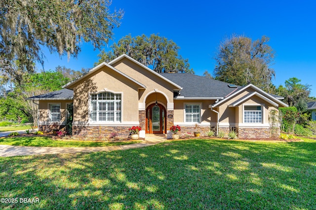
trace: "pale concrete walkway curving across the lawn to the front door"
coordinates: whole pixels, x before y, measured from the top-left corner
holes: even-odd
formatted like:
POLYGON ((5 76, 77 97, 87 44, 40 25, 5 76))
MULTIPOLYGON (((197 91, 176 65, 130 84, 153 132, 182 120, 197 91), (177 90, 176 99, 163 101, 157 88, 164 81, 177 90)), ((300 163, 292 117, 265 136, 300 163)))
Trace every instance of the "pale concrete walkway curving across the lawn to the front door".
POLYGON ((165 141, 165 138, 146 138, 143 142, 119 145, 119 146, 97 146, 97 147, 40 147, 40 146, 11 146, 0 145, 0 157, 12 157, 22 155, 41 155, 59 153, 78 153, 78 152, 99 152, 133 149, 144 146, 151 146, 165 141))

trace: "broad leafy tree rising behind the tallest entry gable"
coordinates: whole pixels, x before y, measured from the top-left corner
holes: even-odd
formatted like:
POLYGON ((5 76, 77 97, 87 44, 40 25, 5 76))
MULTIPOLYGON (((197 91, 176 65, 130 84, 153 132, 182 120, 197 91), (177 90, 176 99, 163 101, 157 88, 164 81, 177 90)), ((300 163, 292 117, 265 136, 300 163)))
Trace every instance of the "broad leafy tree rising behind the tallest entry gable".
POLYGON ((99 61, 110 62, 122 54, 126 54, 141 64, 152 67, 154 71, 161 72, 190 72, 188 59, 178 55, 180 47, 172 40, 158 35, 132 37, 126 35, 114 43, 112 51, 101 52, 99 61))

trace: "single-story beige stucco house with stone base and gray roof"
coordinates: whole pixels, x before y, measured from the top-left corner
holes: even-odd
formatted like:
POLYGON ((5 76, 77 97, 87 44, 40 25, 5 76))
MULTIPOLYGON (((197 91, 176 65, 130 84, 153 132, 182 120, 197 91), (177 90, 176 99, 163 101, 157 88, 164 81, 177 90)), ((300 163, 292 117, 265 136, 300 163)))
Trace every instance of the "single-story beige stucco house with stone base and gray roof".
POLYGON ((146 134, 167 134, 172 125, 181 132, 237 131, 239 138, 269 138, 269 113, 287 106, 282 97, 256 86, 244 87, 191 73, 157 73, 127 55, 102 63, 66 84, 64 89, 35 96, 39 130, 53 122, 65 126, 73 106, 73 134, 126 137, 128 128, 146 134))

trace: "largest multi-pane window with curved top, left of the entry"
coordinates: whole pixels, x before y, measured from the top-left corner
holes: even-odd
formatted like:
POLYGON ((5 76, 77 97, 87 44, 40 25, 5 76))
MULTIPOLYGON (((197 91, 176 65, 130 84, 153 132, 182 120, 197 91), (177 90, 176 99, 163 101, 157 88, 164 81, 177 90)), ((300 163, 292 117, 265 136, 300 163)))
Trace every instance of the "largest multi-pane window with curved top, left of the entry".
POLYGON ((93 122, 121 122, 121 94, 103 92, 91 94, 93 122))

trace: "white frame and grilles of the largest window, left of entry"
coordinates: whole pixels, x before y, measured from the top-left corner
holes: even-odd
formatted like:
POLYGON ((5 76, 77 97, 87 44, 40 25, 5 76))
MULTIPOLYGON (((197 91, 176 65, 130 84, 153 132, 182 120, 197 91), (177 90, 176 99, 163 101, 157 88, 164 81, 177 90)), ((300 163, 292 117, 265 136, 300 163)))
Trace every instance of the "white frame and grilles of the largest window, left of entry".
MULTIPOLYGON (((122 116, 123 116, 123 93, 122 92, 114 92, 114 91, 100 91, 100 92, 94 92, 94 93, 89 93, 89 122, 91 122, 91 123, 101 123, 101 124, 108 124, 108 123, 110 123, 110 124, 119 124, 119 123, 122 123, 122 116), (110 94, 114 94, 114 97, 115 97, 115 99, 114 100, 99 100, 99 94, 102 94, 102 93, 110 93, 110 94), (93 100, 92 99, 92 95, 97 95, 97 99, 96 100, 93 100), (116 97, 117 97, 117 95, 120 95, 120 100, 117 100, 116 99, 116 97), (93 110, 93 106, 92 106, 92 103, 94 102, 94 101, 96 101, 96 110, 94 111, 93 110), (114 118, 114 121, 107 121, 107 120, 105 120, 105 121, 103 121, 103 120, 99 120, 99 103, 109 103, 109 102, 114 102, 114 110, 113 110, 113 113, 114 113, 114 116, 113 116, 113 118, 114 118), (118 104, 118 102, 120 102, 120 109, 119 110, 117 110, 118 108, 117 108, 117 104, 118 104), (95 116, 95 119, 96 120, 93 120, 93 117, 92 117, 92 114, 93 113, 96 113, 96 116, 95 116), (120 120, 118 121, 117 120, 117 113, 118 112, 120 112, 120 120)), ((106 107, 108 107, 108 105, 107 104, 105 104, 106 105, 106 107)), ((108 109, 106 109, 106 110, 102 110, 102 112, 112 112, 111 110, 108 110, 108 109)), ((106 116, 106 118, 107 118, 107 116, 106 116)))

